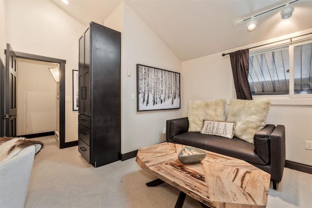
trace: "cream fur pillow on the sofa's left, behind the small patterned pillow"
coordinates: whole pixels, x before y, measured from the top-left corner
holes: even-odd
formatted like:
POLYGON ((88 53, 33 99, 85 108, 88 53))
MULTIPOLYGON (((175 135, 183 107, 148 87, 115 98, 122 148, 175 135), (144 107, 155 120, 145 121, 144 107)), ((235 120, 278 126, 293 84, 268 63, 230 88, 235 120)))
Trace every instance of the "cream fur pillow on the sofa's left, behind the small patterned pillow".
POLYGON ((189 132, 200 132, 203 120, 224 121, 225 120, 225 99, 215 100, 190 100, 188 119, 189 132))

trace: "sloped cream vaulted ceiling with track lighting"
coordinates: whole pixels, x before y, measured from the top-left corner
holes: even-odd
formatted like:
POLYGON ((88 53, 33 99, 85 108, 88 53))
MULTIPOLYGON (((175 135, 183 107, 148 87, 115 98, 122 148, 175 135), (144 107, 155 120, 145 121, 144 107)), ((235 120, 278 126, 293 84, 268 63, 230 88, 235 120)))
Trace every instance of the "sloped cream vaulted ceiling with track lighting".
MULTIPOLYGON (((52 0, 85 25, 103 24, 121 0, 52 0)), ((281 19, 275 9, 258 16, 254 31, 246 22, 234 26, 233 19, 249 17, 289 0, 124 0, 182 61, 226 51, 265 39, 312 28, 312 0, 298 0, 290 19, 281 19)))

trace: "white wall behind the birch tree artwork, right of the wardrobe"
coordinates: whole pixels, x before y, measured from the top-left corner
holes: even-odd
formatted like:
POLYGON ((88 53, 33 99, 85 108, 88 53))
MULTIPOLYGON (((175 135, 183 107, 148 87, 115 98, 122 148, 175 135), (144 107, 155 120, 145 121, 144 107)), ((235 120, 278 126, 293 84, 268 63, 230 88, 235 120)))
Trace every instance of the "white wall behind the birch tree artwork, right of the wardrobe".
POLYGON ((166 120, 181 117, 181 110, 137 112, 137 100, 131 100, 131 94, 137 92, 136 65, 139 63, 181 72, 181 60, 125 2, 121 2, 104 22, 106 26, 122 31, 121 152, 127 153, 165 141, 163 129, 166 120), (131 76, 127 76, 127 70, 131 71, 131 76))

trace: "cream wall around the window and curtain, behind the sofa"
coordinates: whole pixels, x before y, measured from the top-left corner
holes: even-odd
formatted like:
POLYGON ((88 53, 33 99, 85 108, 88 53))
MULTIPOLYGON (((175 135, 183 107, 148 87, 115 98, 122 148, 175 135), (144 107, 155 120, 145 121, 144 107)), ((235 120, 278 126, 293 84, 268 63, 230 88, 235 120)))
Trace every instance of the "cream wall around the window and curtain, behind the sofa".
MULTIPOLYGON (((230 57, 222 57, 222 53, 250 48, 309 32, 312 32, 312 29, 231 49, 226 52, 184 61, 182 63, 183 116, 187 116, 188 100, 226 98, 229 101, 233 97, 234 85, 230 57)), ((309 99, 310 101, 308 100, 308 102, 311 103, 312 98, 309 99)), ((312 151, 306 150, 304 143, 305 140, 312 140, 312 105, 285 105, 286 102, 289 103, 291 101, 289 99, 279 102, 272 100, 273 105, 271 105, 267 116, 267 123, 285 126, 287 160, 312 165, 312 151)))

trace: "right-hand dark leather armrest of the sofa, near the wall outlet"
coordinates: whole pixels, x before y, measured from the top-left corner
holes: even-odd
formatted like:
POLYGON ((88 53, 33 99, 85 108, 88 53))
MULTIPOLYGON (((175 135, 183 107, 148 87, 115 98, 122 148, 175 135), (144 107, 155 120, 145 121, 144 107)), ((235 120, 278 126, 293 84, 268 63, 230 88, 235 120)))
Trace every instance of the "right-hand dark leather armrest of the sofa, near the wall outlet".
POLYGON ((285 126, 277 125, 270 137, 271 143, 271 178, 282 180, 285 166, 285 126))

